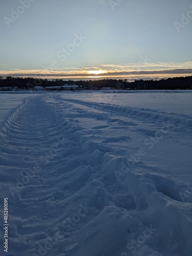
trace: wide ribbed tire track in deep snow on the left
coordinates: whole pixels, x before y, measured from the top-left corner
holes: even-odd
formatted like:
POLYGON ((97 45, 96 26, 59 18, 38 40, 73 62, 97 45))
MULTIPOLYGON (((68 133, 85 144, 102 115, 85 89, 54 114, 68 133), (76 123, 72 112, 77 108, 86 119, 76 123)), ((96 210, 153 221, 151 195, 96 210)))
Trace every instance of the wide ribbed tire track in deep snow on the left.
MULTIPOLYGON (((105 153, 113 149, 82 136, 81 129, 63 119, 45 99, 40 96, 24 100, 0 130, 1 183, 5 182, 2 188, 11 199, 12 252, 18 250, 19 255, 28 254, 22 254, 18 244, 26 248, 27 241, 27 250, 33 249, 38 240, 44 241, 53 230, 61 229, 60 222, 69 218, 77 205, 87 203, 92 210, 70 232, 72 237, 109 201, 98 172, 109 161, 105 153), (60 137, 65 138, 63 145, 57 147, 56 154, 47 156, 60 137), (44 156, 48 158, 46 164, 44 156)), ((69 236, 66 230, 62 232, 69 236)))

